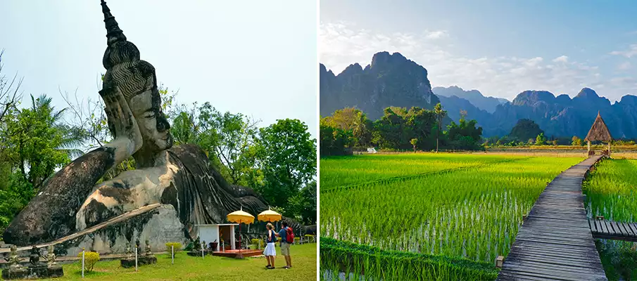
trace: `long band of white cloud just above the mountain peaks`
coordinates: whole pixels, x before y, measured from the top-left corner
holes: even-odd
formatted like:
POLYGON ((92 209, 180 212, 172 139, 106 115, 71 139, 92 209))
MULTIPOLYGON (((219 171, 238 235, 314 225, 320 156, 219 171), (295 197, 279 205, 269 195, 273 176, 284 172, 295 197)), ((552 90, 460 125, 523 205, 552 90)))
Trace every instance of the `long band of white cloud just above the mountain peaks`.
POLYGON ((458 55, 455 48, 450 47, 450 44, 467 46, 464 42, 432 41, 428 35, 429 32, 382 34, 358 29, 349 23, 322 23, 319 30, 320 62, 339 74, 352 63, 359 63, 362 67, 370 64, 374 53, 398 52, 425 67, 432 86, 458 85, 465 89, 478 89, 487 96, 509 99, 530 89, 574 96, 582 87, 595 85, 605 85, 600 95, 611 100, 617 100, 626 93, 637 93, 637 86, 627 84, 629 81, 626 79, 619 81, 622 84, 605 83, 607 79, 600 74, 599 67, 574 61, 566 55, 553 60, 539 56, 469 58, 458 55))

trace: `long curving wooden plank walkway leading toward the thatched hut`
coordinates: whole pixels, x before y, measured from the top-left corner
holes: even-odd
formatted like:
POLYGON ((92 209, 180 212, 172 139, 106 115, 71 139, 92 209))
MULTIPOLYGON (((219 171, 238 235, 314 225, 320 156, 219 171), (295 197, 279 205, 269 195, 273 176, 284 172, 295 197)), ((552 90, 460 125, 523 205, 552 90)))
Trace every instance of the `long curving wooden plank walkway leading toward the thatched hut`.
POLYGON ((600 157, 572 166, 546 186, 497 280, 607 280, 581 193, 586 172, 600 157))

